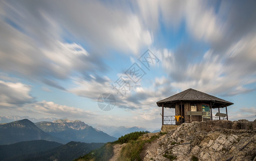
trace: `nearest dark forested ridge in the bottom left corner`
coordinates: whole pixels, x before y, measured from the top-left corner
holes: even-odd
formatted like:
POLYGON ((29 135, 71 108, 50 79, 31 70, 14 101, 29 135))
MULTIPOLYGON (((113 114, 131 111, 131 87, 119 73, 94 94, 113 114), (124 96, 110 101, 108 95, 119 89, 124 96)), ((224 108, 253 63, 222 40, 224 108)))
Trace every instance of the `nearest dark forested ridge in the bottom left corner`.
POLYGON ((44 140, 0 145, 0 160, 74 160, 104 143, 69 142, 60 144, 44 140))

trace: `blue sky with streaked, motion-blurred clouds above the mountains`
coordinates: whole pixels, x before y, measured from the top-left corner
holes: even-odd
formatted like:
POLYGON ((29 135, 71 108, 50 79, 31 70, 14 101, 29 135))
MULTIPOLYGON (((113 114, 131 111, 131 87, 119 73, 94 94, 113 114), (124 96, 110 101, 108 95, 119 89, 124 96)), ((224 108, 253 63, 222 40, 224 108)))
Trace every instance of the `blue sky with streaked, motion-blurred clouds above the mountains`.
POLYGON ((0 115, 159 129, 156 102, 192 88, 234 103, 229 120, 253 121, 255 8, 247 0, 1 0, 0 115))

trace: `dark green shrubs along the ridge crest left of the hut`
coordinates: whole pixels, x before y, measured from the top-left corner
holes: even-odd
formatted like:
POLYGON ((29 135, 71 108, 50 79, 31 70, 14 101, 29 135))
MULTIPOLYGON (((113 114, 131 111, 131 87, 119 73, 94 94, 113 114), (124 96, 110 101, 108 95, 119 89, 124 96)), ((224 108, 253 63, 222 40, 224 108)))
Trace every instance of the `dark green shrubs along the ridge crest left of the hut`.
POLYGON ((147 133, 149 133, 149 131, 136 131, 133 133, 126 134, 125 136, 121 136, 118 138, 117 141, 114 141, 112 143, 114 143, 114 144, 128 143, 129 141, 137 140, 138 137, 140 137, 143 134, 147 134, 147 133))

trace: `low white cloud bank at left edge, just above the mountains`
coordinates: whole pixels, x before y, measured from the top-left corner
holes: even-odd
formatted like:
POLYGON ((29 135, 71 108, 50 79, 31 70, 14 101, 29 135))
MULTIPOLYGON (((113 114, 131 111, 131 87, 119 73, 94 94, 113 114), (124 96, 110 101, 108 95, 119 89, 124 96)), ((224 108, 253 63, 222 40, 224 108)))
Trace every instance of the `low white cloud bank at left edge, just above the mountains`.
MULTIPOLYGON (((92 119, 95 114, 84 109, 55 104, 52 101, 36 101, 31 96, 31 86, 17 82, 0 80, 0 107, 1 114, 30 116, 51 116, 57 118, 87 118, 92 119)), ((49 90, 44 87, 44 90, 49 90)))

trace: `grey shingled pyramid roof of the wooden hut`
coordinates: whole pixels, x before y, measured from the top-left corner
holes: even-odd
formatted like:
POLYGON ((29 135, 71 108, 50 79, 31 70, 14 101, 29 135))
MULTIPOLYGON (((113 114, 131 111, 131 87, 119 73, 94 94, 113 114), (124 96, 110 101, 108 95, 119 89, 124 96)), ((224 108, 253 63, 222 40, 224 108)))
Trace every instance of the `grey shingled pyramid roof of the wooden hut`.
POLYGON ((175 104, 180 101, 196 101, 202 103, 211 103, 212 108, 233 105, 233 103, 229 101, 217 98, 215 96, 211 96, 210 94, 203 93, 194 89, 188 89, 183 92, 174 94, 171 97, 158 101, 157 106, 162 107, 162 104, 164 104, 164 107, 175 108, 175 104))

